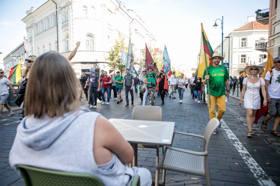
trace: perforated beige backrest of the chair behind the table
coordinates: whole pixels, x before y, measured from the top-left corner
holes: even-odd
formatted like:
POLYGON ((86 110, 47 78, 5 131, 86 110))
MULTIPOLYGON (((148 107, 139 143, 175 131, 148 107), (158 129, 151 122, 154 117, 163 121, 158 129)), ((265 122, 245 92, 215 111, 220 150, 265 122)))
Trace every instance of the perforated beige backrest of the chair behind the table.
POLYGON ((131 119, 162 121, 162 109, 159 106, 136 106, 132 110, 131 119))

